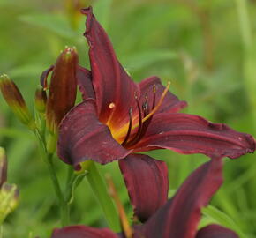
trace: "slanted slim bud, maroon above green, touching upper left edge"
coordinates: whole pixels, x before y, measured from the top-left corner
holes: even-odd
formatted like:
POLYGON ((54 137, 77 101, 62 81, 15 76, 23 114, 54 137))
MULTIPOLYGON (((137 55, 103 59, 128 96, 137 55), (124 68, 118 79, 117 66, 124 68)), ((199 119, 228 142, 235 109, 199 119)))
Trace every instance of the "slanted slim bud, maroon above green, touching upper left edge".
POLYGON ((7 104, 14 114, 17 115, 20 122, 26 124, 31 130, 34 130, 34 119, 26 107, 25 100, 19 92, 19 88, 6 74, 0 76, 0 90, 7 104))

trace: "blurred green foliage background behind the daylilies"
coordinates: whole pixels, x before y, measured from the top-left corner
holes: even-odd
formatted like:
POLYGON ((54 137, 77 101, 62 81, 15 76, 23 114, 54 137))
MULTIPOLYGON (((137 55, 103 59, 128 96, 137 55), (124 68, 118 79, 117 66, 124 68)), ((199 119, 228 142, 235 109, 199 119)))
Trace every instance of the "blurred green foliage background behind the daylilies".
MULTIPOLYGON (((136 81, 151 75, 171 81, 171 91, 187 100, 184 110, 256 136, 256 1, 245 0, 0 0, 0 73, 19 86, 33 109, 41 71, 55 63, 65 45, 76 46, 87 66, 85 17, 94 14, 109 33, 117 56, 136 81)), ((19 123, 0 96, 0 145, 9 159, 8 181, 20 190, 18 209, 5 220, 4 237, 49 237, 58 212, 48 171, 34 135, 19 123)), ((170 193, 206 157, 150 152, 169 165, 170 193)), ((215 221, 241 237, 256 237, 255 155, 225 160, 225 182, 204 211, 201 223, 215 221)), ((67 166, 56 159, 65 182, 67 166)), ((110 171, 130 217, 127 192, 117 163, 110 171)), ((72 205, 72 224, 106 227, 87 181, 72 205)))

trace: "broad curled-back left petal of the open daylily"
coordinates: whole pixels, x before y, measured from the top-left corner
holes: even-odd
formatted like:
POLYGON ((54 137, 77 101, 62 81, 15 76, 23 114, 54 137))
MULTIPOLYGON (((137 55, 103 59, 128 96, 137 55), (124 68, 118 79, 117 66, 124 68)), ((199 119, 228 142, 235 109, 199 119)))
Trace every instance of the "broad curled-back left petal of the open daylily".
POLYGON ((85 100, 65 115, 59 126, 58 156, 77 166, 85 160, 105 164, 124 158, 129 151, 98 121, 94 100, 85 100))

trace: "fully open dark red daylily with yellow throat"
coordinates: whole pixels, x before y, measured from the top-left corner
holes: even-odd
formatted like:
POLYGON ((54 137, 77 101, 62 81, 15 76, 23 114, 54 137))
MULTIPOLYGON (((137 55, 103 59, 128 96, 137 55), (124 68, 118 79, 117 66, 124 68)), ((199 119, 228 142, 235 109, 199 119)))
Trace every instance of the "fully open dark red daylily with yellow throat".
POLYGON ((159 78, 134 83, 118 62, 92 8, 82 13, 87 15, 85 36, 91 71, 79 67, 77 72, 84 101, 72 108, 59 126, 57 153, 61 160, 73 167, 85 160, 102 164, 119 160, 135 214, 144 221, 167 201, 168 183, 163 179, 166 167, 161 161, 134 152, 164 148, 211 158, 237 158, 254 152, 251 135, 207 122, 198 115, 177 113, 186 102, 170 93, 169 86, 162 86, 159 78), (131 183, 133 171, 143 175, 139 189, 131 183), (143 188, 157 181, 162 181, 161 186, 153 186, 152 192, 161 196, 148 199, 143 188), (132 190, 138 190, 141 196, 134 199, 132 190))

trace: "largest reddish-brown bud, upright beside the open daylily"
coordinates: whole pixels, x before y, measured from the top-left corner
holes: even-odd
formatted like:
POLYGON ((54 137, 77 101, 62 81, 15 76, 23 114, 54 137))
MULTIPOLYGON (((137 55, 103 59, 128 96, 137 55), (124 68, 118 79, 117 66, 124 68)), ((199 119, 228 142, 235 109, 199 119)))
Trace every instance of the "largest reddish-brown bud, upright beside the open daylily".
POLYGON ((74 106, 77 95, 76 71, 78 55, 75 48, 65 48, 53 69, 47 100, 47 125, 55 132, 64 115, 74 106))

